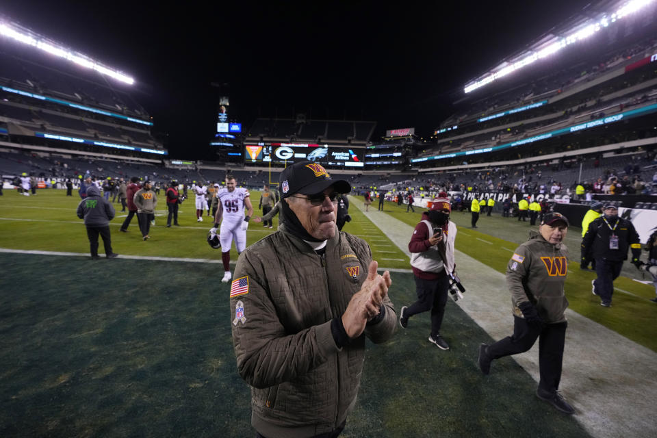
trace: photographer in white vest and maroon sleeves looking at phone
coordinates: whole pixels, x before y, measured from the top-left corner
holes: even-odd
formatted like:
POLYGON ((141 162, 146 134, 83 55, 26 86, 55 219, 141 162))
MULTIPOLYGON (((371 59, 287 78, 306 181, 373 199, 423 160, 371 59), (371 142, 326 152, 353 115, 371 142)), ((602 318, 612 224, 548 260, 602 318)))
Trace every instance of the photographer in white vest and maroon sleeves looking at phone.
POLYGON ((411 316, 430 310, 429 342, 441 350, 449 350, 450 346, 440 335, 447 294, 449 291, 457 300, 465 289, 454 272, 456 224, 450 221, 452 207, 445 192, 438 196, 429 211, 422 213, 422 222, 415 226, 409 243, 417 301, 409 307, 402 307, 399 324, 406 329, 411 316))

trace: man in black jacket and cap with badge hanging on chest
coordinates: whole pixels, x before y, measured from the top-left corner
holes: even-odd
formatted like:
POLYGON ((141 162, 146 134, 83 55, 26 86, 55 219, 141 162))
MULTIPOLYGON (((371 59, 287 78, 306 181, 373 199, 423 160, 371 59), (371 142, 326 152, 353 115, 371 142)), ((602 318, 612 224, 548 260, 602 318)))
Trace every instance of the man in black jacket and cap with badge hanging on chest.
POLYGON ((641 266, 641 242, 634 225, 618 217, 615 205, 605 205, 602 217, 589 225, 582 240, 582 254, 593 254, 597 279, 591 281, 593 295, 600 296, 600 305, 611 306, 614 280, 621 274, 623 261, 628 259, 628 248, 632 250, 632 263, 641 266))

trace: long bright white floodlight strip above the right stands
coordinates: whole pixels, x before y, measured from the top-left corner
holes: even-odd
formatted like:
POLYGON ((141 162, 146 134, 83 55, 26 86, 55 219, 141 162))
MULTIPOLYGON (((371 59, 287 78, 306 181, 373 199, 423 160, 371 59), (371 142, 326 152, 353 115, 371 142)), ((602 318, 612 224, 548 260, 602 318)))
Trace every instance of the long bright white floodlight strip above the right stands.
POLYGON ((613 14, 603 14, 598 21, 587 21, 574 29, 563 32, 563 35, 555 35, 548 44, 522 53, 519 56, 519 58, 521 58, 520 61, 513 62, 512 64, 509 64, 508 62, 500 64, 500 66, 493 71, 489 71, 475 81, 467 84, 465 88, 463 88, 463 91, 465 94, 472 92, 496 79, 500 79, 501 77, 518 70, 519 68, 532 64, 532 62, 536 60, 548 57, 570 44, 585 40, 596 32, 609 27, 611 23, 615 23, 625 16, 634 14, 634 12, 641 10, 641 8, 644 8, 652 2, 653 0, 631 0, 621 6, 616 12, 613 12, 613 14))

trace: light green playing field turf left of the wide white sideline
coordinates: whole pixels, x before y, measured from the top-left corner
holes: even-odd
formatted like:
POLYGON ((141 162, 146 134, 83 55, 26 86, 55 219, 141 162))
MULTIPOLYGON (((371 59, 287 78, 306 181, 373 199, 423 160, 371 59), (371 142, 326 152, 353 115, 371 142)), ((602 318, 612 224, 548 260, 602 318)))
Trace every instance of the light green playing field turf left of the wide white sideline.
MULTIPOLYGON (((75 216, 80 201, 77 192, 65 196, 65 190, 38 190, 37 196, 21 196, 14 190, 5 190, 0 196, 0 248, 22 250, 49 250, 71 253, 88 253, 89 244, 83 221, 75 216)), ((261 216, 257 208, 260 192, 251 192, 254 216, 261 216)), ((167 211, 164 192, 159 196, 155 212, 155 227, 151 226, 151 240, 144 242, 133 217, 128 233, 120 233, 127 212, 120 212, 120 204, 114 203, 116 217, 110 223, 112 248, 120 255, 142 255, 153 257, 185 257, 193 259, 221 259, 219 250, 205 242, 207 231, 214 218, 204 212, 203 222, 196 222, 194 199, 180 205, 181 227, 166 228, 167 211)), ((381 233, 357 209, 350 211, 353 218, 348 224, 350 233, 363 236, 370 242, 374 259, 386 268, 409 268, 409 258, 381 233)), ((257 242, 276 230, 278 216, 274 217, 274 228, 264 228, 261 223, 250 222, 246 232, 248 245, 257 242)), ((99 248, 103 254, 103 245, 99 248)), ((235 245, 231 248, 231 260, 237 260, 235 245)))

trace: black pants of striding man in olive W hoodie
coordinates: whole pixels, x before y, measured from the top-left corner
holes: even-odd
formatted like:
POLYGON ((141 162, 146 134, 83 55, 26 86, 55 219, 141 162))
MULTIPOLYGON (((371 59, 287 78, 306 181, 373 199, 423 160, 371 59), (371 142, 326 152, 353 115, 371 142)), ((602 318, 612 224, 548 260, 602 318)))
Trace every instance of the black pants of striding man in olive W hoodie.
POLYGON ((528 324, 524 318, 513 316, 513 335, 500 339, 488 347, 487 354, 492 359, 517 355, 532 348, 539 338, 539 393, 550 396, 559 389, 563 345, 566 339, 567 322, 557 324, 528 324))

